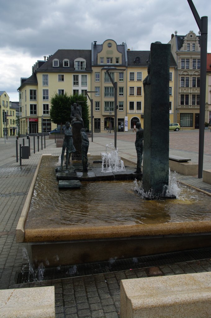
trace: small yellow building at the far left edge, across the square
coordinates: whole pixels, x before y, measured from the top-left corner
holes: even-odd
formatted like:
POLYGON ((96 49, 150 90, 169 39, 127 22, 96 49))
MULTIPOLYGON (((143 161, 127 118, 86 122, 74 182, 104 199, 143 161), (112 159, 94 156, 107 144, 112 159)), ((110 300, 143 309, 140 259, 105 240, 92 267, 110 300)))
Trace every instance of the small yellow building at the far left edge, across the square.
POLYGON ((17 135, 17 127, 14 124, 16 120, 16 110, 10 107, 10 97, 5 91, 0 91, 0 137, 17 135), (4 123, 3 113, 6 112, 6 121, 4 123))

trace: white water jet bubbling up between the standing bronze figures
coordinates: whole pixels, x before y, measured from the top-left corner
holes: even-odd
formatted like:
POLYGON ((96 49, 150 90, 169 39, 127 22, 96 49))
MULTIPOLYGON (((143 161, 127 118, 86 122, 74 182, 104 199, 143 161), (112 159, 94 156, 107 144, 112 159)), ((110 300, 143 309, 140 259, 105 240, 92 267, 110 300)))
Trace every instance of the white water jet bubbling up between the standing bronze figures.
POLYGON ((106 145, 105 152, 101 153, 102 156, 102 172, 122 171, 125 170, 124 162, 118 154, 118 148, 115 149, 114 145, 106 145))

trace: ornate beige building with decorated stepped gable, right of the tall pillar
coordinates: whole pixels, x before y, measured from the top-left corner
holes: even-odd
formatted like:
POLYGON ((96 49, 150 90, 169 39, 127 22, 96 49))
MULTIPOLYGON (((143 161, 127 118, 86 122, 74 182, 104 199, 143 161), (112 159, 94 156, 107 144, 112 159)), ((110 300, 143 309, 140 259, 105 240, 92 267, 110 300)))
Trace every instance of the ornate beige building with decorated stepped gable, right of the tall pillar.
MULTIPOLYGON (((176 32, 176 31, 175 31, 176 32)), ((171 52, 177 63, 174 121, 187 129, 199 128, 200 108, 200 36, 190 31, 173 35, 171 52)))

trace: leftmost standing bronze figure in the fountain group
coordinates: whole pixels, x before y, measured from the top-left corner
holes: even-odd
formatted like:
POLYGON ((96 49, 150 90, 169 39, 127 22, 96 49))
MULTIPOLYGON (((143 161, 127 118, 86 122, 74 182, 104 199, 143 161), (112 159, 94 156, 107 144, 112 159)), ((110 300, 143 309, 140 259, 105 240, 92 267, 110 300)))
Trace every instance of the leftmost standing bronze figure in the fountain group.
POLYGON ((69 155, 72 152, 76 152, 76 149, 73 145, 72 142, 72 129, 70 127, 70 122, 67 121, 65 124, 64 128, 64 134, 65 138, 63 141, 63 146, 62 146, 62 154, 61 154, 61 169, 63 169, 63 161, 64 161, 64 156, 65 156, 65 149, 66 149, 66 169, 68 168, 68 163, 69 163, 69 155))

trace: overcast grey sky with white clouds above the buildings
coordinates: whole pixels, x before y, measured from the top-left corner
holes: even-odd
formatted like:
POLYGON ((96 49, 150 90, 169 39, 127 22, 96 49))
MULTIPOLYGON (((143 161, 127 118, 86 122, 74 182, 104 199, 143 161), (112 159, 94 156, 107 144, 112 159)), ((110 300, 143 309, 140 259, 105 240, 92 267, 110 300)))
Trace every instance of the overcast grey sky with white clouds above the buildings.
MULTIPOLYGON (((210 0, 193 3, 200 17, 211 12, 210 0)), ((168 43, 175 30, 199 31, 187 0, 9 0, 1 2, 0 14, 0 91, 11 101, 18 101, 20 78, 58 49, 91 49, 93 41, 113 39, 148 51, 152 42, 168 43)))

